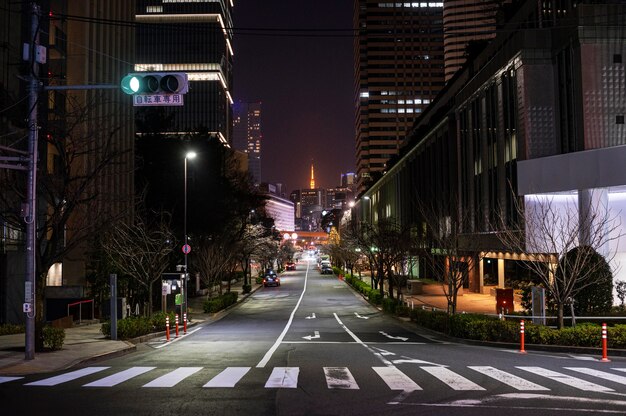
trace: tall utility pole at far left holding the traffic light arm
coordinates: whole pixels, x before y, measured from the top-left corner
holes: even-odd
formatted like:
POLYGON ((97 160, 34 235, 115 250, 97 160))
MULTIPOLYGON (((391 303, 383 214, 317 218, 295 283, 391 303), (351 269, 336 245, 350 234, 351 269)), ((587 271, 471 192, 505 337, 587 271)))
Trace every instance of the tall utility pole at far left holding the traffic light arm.
POLYGON ((39 125, 37 106, 39 103, 39 19, 41 9, 36 3, 31 4, 31 36, 29 45, 28 68, 28 184, 26 189, 26 276, 24 279, 24 314, 26 315, 25 359, 35 358, 35 316, 36 316, 36 279, 35 279, 35 244, 37 232, 37 143, 39 125))

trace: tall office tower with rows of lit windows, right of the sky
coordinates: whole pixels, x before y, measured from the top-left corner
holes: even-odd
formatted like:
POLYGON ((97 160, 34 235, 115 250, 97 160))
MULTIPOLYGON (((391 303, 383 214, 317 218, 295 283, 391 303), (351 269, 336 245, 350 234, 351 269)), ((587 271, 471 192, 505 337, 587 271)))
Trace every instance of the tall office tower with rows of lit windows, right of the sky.
POLYGON ((385 170, 444 85, 443 2, 355 0, 359 190, 385 170))

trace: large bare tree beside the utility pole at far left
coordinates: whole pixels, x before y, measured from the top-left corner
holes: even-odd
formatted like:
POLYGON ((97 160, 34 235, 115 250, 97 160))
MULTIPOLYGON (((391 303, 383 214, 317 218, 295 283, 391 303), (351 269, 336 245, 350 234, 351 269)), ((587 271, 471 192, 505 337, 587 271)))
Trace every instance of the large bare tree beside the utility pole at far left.
MULTIPOLYGON (((86 243, 94 235, 102 234, 118 219, 132 216, 132 140, 120 134, 122 126, 111 126, 110 120, 119 117, 115 117, 110 100, 103 94, 90 97, 85 103, 68 96, 62 116, 51 118, 40 134, 39 147, 45 152, 37 174, 38 333, 44 320, 50 267, 64 259, 84 258, 86 243), (128 185, 112 186, 121 183, 128 185)), ((25 224, 20 205, 26 200, 25 184, 23 173, 0 169, 0 220, 22 232, 25 224)), ((37 347, 41 346, 39 342, 37 347)))

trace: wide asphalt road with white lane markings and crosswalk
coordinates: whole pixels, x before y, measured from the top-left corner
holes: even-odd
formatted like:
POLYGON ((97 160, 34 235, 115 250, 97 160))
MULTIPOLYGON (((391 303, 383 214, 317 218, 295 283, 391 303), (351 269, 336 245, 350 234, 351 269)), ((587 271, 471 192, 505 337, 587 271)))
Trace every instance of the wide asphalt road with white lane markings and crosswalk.
POLYGON ((300 263, 280 287, 175 341, 0 377, 0 406, 7 415, 624 415, 626 360, 420 335, 300 263))

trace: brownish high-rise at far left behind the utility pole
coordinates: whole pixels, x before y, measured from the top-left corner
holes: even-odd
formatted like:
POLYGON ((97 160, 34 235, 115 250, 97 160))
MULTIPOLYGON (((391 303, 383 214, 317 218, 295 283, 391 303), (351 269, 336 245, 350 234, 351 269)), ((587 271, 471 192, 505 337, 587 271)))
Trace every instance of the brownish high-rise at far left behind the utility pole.
MULTIPOLYGON (((32 6, 0 2, 0 156, 8 147, 26 149, 22 138, 29 109, 20 79, 32 75, 43 86, 62 88, 41 89, 37 107, 37 273, 47 272, 46 319, 54 320, 67 315, 67 303, 87 294, 88 239, 101 235, 101 227, 132 216, 132 104, 119 89, 95 85, 117 84, 132 70, 133 29, 113 22, 132 21, 133 7, 125 0, 39 3, 39 42, 46 62, 35 72, 22 60, 22 42, 33 38, 32 6)), ((7 172, 2 171, 0 182, 7 172)), ((21 187, 25 176, 8 178, 21 187)), ((0 193, 0 322, 18 323, 24 319, 25 237, 11 213, 20 212, 23 199, 12 199, 6 182, 0 183, 0 193)))

